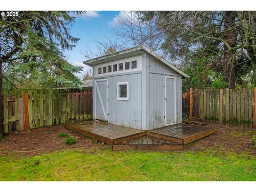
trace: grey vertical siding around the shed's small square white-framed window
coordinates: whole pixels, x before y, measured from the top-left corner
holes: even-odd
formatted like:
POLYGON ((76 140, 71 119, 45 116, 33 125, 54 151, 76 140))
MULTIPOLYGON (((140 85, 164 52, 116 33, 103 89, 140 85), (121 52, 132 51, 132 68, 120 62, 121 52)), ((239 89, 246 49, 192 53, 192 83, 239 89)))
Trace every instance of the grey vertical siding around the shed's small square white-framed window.
POLYGON ((141 73, 108 77, 108 122, 141 130, 141 73), (129 101, 117 100, 117 83, 129 82, 129 101))

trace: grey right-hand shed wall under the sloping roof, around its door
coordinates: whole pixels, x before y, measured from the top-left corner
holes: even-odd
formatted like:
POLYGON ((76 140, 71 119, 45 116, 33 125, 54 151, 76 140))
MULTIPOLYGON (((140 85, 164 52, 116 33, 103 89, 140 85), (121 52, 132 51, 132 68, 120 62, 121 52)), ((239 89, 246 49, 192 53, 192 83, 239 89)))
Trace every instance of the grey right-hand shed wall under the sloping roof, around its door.
POLYGON ((177 124, 182 123, 182 77, 176 71, 166 66, 161 61, 147 53, 146 67, 148 68, 148 97, 147 97, 147 129, 157 129, 165 126, 165 76, 175 76, 176 78, 176 113, 177 124))

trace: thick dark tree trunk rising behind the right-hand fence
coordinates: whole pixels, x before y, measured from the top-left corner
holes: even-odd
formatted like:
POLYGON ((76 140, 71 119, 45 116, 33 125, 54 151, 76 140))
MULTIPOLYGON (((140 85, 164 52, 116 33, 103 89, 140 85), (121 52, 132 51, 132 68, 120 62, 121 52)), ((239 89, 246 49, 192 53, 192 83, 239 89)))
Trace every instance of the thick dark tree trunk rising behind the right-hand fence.
MULTIPOLYGON (((235 12, 234 11, 225 11, 224 12, 224 39, 231 48, 236 46, 236 33, 235 29, 231 29, 235 26, 235 12)), ((222 74, 225 76, 225 80, 228 82, 228 86, 230 88, 235 87, 236 76, 235 76, 235 50, 229 50, 227 46, 224 47, 223 54, 223 69, 222 74)))

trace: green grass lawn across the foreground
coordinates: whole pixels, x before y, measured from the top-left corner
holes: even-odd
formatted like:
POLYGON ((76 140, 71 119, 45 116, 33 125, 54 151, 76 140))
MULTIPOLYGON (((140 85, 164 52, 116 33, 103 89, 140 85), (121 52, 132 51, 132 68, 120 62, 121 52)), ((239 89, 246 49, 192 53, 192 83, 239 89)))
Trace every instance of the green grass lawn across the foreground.
POLYGON ((256 158, 214 151, 65 150, 0 157, 1 181, 256 181, 256 158))

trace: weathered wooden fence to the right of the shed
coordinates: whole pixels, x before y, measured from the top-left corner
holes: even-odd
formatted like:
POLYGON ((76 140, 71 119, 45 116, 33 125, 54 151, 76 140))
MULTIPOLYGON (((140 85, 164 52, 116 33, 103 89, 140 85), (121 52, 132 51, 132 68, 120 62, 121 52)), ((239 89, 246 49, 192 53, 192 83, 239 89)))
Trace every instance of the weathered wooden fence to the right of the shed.
POLYGON ((206 122, 256 127, 255 89, 211 89, 182 93, 182 113, 206 122))

